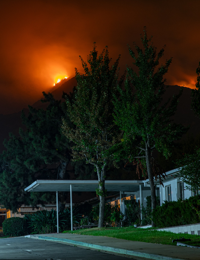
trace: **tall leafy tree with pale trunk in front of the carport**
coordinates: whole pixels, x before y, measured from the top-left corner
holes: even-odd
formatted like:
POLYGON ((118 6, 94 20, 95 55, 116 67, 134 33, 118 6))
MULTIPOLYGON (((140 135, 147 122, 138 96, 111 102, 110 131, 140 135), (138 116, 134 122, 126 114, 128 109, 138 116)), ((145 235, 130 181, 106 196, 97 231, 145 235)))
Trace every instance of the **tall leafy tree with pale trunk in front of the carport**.
MULTIPOLYGON (((80 57, 81 58, 81 57, 80 57)), ((113 162, 109 152, 119 139, 118 127, 113 123, 113 94, 117 92, 118 62, 110 66, 108 48, 98 57, 94 44, 88 56, 88 64, 81 58, 85 74, 76 69, 77 90, 73 103, 66 103, 70 120, 76 125, 71 128, 63 120, 63 134, 74 142, 73 160, 85 159, 97 171, 100 197, 99 227, 103 227, 105 209, 105 179, 108 164, 113 162)))

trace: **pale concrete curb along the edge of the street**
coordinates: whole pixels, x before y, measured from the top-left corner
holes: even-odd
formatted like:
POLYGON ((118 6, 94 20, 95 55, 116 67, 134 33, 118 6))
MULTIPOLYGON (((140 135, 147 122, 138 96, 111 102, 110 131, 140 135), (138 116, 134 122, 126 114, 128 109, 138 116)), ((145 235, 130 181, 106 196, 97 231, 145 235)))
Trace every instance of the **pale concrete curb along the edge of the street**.
POLYGON ((42 240, 66 242, 66 243, 79 245, 79 246, 83 246, 83 247, 90 247, 90 248, 95 248, 95 249, 99 249, 99 250, 105 250, 105 251, 124 254, 124 255, 145 257, 145 258, 150 258, 150 259, 155 259, 155 260, 175 260, 175 259, 183 260, 183 259, 179 259, 179 258, 172 258, 172 257, 165 257, 165 256, 148 254, 148 253, 136 252, 136 251, 131 251, 131 250, 122 249, 122 248, 106 247, 106 246, 100 246, 100 245, 95 245, 95 244, 89 244, 89 243, 75 241, 75 240, 66 239, 66 238, 44 237, 44 236, 38 236, 38 235, 27 235, 25 237, 30 237, 30 238, 34 237, 34 238, 42 239, 42 240))

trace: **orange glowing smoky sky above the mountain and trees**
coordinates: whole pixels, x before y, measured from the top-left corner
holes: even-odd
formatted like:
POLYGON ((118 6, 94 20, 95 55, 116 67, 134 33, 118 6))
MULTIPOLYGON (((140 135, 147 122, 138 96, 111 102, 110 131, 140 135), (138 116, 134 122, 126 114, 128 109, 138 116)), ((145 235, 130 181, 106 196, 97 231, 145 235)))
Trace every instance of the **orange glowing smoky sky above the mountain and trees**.
POLYGON ((131 65, 127 43, 140 43, 147 26, 164 59, 173 57, 170 85, 194 88, 200 60, 199 1, 158 0, 2 0, 0 1, 0 114, 32 105, 58 79, 83 71, 97 42, 110 57, 121 54, 120 68, 131 65))

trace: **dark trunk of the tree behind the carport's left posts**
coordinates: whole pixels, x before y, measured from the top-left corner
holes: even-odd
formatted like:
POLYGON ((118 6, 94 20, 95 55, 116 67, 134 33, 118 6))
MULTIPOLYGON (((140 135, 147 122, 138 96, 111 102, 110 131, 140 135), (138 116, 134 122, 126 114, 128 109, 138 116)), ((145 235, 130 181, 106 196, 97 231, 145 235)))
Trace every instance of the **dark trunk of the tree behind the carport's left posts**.
MULTIPOLYGON (((65 178, 65 172, 68 166, 68 162, 61 162, 60 167, 58 169, 58 179, 63 180, 65 178)), ((66 198, 68 196, 68 192, 63 191, 58 194, 58 212, 63 211, 65 209, 66 198)))

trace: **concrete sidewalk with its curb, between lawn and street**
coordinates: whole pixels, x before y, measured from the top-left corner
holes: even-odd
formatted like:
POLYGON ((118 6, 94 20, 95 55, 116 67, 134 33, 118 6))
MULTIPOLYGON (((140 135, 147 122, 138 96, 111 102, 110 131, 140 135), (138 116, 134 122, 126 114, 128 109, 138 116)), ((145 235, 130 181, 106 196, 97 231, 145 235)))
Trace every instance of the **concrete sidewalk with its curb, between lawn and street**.
POLYGON ((130 241, 112 237, 86 236, 78 234, 43 234, 25 237, 49 241, 66 242, 72 245, 96 248, 115 253, 145 257, 155 260, 200 260, 200 248, 170 246, 130 241))

